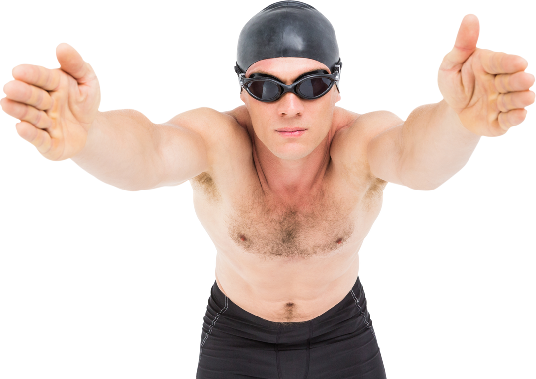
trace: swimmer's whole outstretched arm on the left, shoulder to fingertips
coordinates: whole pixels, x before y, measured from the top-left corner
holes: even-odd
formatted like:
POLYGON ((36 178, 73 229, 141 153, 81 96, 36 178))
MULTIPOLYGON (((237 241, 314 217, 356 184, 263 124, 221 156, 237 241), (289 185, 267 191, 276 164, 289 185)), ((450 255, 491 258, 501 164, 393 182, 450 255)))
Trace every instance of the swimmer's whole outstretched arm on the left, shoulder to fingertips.
POLYGON ((160 123, 136 108, 101 110, 102 87, 93 65, 65 41, 54 55, 57 68, 13 66, 0 99, 2 111, 17 120, 17 136, 43 159, 71 160, 124 192, 176 186, 210 166, 212 149, 206 144, 221 143, 213 126, 225 119, 217 109, 196 107, 160 123))

